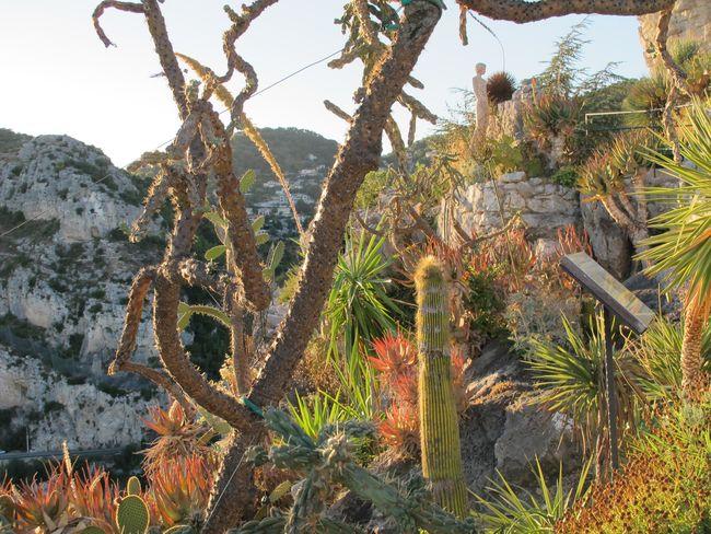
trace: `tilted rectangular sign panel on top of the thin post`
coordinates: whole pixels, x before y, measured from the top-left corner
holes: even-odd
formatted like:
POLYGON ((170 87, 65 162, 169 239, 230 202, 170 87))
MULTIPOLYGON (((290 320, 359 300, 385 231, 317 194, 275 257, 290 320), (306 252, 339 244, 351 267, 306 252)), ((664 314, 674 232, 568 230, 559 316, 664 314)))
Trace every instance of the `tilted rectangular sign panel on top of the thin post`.
POLYGON ((560 267, 637 334, 654 321, 652 310, 584 252, 564 256, 560 267))

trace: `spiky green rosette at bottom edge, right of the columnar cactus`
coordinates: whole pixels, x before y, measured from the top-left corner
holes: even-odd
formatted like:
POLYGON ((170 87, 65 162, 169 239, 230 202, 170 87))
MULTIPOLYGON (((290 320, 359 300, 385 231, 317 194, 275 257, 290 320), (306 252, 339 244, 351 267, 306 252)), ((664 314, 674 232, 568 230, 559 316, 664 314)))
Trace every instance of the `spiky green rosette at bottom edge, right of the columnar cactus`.
POLYGON ((537 483, 535 492, 515 488, 497 472, 499 480, 492 480, 487 488, 489 496, 476 496, 483 511, 474 515, 486 532, 552 534, 556 523, 584 498, 591 464, 590 461, 583 464, 578 483, 570 489, 567 489, 563 483, 561 464, 556 485, 551 488, 546 481, 540 462, 536 458, 535 465, 531 466, 537 483))

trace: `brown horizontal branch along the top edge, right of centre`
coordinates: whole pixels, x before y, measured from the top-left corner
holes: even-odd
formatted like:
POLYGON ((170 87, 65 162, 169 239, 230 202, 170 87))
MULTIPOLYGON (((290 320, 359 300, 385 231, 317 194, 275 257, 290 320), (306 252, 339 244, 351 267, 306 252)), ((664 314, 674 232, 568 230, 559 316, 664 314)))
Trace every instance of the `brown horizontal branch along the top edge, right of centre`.
POLYGON ((676 0, 457 0, 481 15, 518 24, 570 14, 644 15, 672 8, 676 0))

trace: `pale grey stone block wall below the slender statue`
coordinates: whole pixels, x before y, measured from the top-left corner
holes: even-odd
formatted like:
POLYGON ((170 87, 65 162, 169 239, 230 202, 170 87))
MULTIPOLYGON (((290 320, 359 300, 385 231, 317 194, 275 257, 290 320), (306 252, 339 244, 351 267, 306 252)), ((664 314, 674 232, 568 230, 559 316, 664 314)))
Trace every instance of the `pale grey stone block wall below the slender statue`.
MULTIPOLYGON (((543 178, 527 178, 524 172, 502 175, 491 181, 469 185, 458 198, 461 208, 454 214, 466 232, 486 234, 498 230, 515 213, 520 213, 532 240, 557 237, 559 229, 580 227, 578 193, 543 178), (500 209, 501 208, 501 209, 500 209)), ((446 221, 440 221, 447 235, 446 221)), ((451 233, 450 233, 451 235, 451 233)))

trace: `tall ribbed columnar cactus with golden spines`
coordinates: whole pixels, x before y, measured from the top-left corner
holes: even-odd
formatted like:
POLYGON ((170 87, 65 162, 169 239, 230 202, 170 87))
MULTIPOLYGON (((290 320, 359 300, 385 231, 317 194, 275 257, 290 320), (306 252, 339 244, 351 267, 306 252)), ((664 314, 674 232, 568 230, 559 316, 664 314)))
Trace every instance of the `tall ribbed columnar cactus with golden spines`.
POLYGON ((436 502, 462 518, 467 512, 467 490, 452 385, 450 285, 442 263, 431 256, 422 258, 415 283, 422 474, 436 502))

